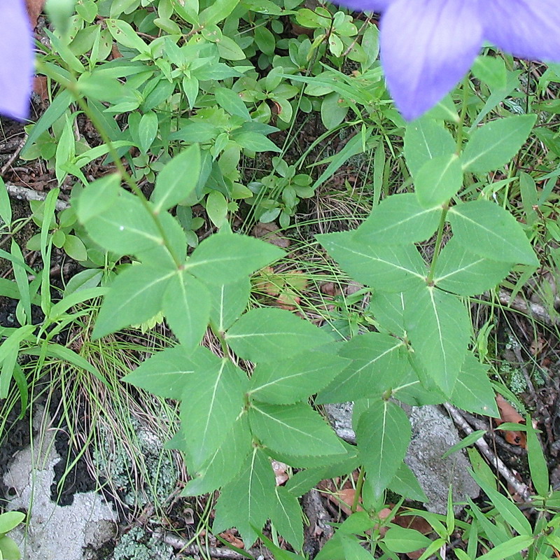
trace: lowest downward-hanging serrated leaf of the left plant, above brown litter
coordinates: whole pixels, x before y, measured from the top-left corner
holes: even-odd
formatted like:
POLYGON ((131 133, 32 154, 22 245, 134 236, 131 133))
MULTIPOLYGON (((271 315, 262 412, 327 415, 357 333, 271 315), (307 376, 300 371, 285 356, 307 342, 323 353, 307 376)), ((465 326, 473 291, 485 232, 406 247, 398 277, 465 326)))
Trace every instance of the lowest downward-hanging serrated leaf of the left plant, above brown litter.
POLYGON ((257 538, 255 527, 262 528, 268 519, 275 486, 269 458, 260 449, 253 449, 239 475, 221 490, 214 533, 235 526, 245 547, 250 547, 257 538))

